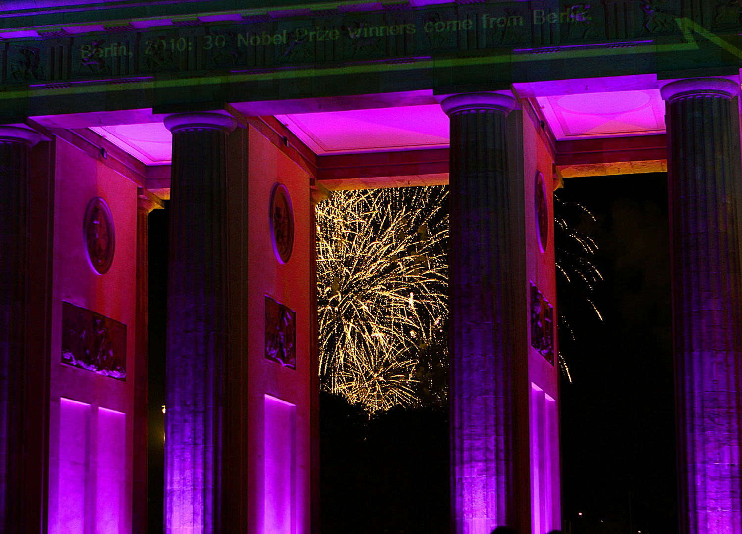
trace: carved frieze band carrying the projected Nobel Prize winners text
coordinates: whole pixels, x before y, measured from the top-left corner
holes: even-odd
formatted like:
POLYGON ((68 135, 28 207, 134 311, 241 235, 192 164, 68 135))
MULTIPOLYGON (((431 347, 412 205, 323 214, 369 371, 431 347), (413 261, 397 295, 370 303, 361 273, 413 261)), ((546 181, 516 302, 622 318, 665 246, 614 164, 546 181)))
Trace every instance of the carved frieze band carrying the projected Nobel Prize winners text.
MULTIPOLYGON (((739 3, 717 1, 705 19, 692 21, 698 32, 742 27, 739 3)), ((203 76, 203 70, 234 73, 331 62, 414 61, 471 50, 519 53, 559 44, 677 38, 682 17, 679 0, 541 0, 420 9, 405 4, 363 13, 327 10, 310 16, 251 16, 223 24, 196 21, 141 31, 124 27, 127 31, 8 40, 3 82, 36 85, 100 78, 122 82, 168 73, 203 76)))

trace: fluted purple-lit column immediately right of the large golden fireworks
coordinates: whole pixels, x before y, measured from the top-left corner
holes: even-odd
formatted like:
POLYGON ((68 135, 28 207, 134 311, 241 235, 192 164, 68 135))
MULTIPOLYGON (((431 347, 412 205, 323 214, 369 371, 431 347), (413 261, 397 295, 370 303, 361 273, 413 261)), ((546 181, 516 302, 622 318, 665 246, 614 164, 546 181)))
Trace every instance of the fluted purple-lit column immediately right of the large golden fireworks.
POLYGON ((456 534, 515 521, 513 296, 506 122, 516 102, 463 94, 450 117, 450 369, 452 513, 456 534))

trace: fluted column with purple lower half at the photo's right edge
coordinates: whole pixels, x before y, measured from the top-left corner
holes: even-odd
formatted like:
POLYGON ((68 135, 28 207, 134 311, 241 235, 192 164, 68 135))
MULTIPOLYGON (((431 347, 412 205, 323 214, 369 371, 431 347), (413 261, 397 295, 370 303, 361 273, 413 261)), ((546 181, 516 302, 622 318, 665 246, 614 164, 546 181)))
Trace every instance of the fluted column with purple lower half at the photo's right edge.
POLYGON ((714 78, 662 89, 683 534, 742 533, 739 93, 714 78))

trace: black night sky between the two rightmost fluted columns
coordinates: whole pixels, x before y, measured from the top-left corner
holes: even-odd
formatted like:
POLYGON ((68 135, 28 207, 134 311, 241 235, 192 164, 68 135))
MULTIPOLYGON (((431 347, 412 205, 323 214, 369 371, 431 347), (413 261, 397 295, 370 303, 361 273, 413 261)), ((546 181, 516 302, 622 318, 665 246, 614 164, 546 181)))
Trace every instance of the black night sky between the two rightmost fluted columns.
POLYGON ((568 178, 557 194, 596 217, 571 220, 605 278, 590 295, 603 321, 559 280, 575 337, 559 335, 565 518, 575 534, 627 533, 631 493, 634 533, 677 533, 667 175, 568 178))

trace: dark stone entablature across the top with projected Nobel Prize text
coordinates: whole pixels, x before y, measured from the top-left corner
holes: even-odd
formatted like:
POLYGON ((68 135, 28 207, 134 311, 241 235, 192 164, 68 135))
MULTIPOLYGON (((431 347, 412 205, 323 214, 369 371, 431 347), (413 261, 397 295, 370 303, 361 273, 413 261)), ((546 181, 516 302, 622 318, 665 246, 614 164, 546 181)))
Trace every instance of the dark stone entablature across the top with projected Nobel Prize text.
POLYGON ((739 74, 737 4, 426 2, 7 2, 3 115, 739 74))

